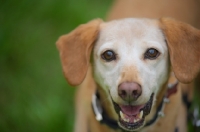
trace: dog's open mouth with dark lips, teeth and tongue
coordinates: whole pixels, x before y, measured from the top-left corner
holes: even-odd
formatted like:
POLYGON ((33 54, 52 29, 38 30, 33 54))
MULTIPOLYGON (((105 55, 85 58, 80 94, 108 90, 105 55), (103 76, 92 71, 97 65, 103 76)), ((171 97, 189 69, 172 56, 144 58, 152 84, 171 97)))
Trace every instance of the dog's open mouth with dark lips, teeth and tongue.
POLYGON ((150 113, 154 93, 143 105, 118 105, 113 101, 115 111, 119 116, 118 124, 126 131, 134 131, 144 126, 145 117, 150 113))

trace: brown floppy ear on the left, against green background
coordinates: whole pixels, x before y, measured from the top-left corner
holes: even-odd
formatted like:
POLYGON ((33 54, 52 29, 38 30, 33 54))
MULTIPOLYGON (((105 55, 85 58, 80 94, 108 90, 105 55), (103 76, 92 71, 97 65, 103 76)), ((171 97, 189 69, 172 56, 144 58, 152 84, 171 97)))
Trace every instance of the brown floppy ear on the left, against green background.
POLYGON ((76 86, 85 78, 93 44, 98 37, 100 19, 82 24, 56 42, 68 83, 76 86))

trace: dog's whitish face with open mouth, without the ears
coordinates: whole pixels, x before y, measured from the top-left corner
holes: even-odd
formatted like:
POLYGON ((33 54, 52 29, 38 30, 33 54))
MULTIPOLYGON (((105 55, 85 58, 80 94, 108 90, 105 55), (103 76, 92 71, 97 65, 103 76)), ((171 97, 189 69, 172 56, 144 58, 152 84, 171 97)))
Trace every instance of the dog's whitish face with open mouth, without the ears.
POLYGON ((157 23, 124 19, 100 25, 93 51, 94 76, 118 106, 119 125, 126 130, 144 125, 150 111, 146 105, 152 105, 168 78, 168 48, 157 23))

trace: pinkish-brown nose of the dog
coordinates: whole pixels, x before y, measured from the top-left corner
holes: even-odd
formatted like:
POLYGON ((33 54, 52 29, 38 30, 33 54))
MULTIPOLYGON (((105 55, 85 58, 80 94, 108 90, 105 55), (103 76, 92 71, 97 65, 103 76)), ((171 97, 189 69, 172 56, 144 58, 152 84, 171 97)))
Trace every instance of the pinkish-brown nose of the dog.
POLYGON ((141 86, 135 82, 124 82, 118 87, 118 95, 128 102, 136 101, 142 94, 141 86))

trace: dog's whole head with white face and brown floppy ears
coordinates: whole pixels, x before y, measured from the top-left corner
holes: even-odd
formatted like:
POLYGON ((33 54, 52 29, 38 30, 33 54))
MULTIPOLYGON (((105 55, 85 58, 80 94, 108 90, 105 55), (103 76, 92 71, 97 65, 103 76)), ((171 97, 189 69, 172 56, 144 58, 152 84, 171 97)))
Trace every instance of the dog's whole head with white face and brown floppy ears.
POLYGON ((96 19, 61 36, 57 47, 71 85, 84 80, 92 59, 95 81, 127 131, 144 126, 170 66, 183 83, 191 82, 200 69, 200 31, 168 18, 96 19))

